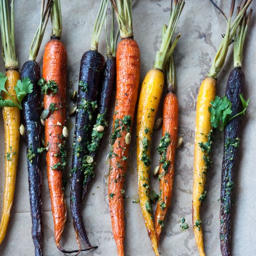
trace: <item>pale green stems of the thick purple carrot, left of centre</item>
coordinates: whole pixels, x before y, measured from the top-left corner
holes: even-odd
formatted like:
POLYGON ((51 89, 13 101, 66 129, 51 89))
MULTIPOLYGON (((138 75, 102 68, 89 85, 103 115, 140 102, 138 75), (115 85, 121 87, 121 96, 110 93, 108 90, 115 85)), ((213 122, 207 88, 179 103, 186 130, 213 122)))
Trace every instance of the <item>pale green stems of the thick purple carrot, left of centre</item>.
POLYGON ((101 29, 104 24, 104 20, 106 18, 108 3, 109 3, 109 0, 101 0, 101 6, 95 21, 93 38, 92 38, 91 48, 90 48, 93 51, 98 51, 99 38, 101 35, 101 29))

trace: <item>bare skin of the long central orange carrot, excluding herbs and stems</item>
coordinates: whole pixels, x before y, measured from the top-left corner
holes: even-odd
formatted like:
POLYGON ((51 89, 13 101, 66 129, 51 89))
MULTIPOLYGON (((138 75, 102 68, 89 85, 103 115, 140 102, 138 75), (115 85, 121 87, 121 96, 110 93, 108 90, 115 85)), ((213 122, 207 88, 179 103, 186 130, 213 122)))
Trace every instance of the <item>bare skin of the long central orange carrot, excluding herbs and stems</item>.
MULTIPOLYGON (((137 42, 132 38, 121 40, 116 52, 115 113, 117 114, 113 116, 113 124, 117 118, 122 119, 124 115, 130 115, 133 120, 140 82, 140 63, 140 50, 137 42)), ((123 156, 128 157, 129 150, 129 145, 125 143, 126 135, 127 131, 123 130, 121 137, 115 142, 112 141, 113 154, 117 156, 113 155, 114 157, 110 158, 108 177, 108 195, 115 194, 113 199, 109 197, 109 209, 119 256, 124 255, 124 204, 121 189, 123 189, 127 168, 127 161, 122 161, 122 159, 123 156), (114 182, 115 179, 117 182, 114 182)))

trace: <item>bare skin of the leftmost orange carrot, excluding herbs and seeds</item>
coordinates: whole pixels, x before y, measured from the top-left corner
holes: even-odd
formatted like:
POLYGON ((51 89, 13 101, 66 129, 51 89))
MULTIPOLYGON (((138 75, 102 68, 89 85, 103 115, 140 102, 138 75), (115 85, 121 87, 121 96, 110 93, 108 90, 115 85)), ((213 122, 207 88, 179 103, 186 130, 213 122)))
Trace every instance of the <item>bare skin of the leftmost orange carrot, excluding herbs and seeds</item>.
POLYGON ((54 164, 61 162, 61 157, 54 155, 60 155, 58 145, 63 142, 62 128, 66 122, 67 51, 58 39, 51 39, 45 46, 43 78, 46 81, 54 80, 58 85, 56 94, 44 95, 44 108, 49 108, 51 103, 56 103, 55 107, 58 108, 49 115, 45 122, 45 142, 48 147, 47 176, 54 217, 55 243, 58 246, 67 218, 66 202, 62 190, 62 171, 52 169, 54 164), (57 125, 57 122, 61 125, 57 125))

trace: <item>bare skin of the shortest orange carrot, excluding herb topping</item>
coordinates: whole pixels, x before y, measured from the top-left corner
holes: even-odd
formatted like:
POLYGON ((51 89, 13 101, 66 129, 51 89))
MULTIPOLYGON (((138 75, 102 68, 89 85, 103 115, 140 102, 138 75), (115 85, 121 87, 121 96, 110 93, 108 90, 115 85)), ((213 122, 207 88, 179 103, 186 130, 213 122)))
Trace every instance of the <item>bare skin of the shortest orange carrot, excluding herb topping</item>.
MULTIPOLYGON (((171 204, 172 191, 173 191, 173 179, 174 179, 174 164, 175 164, 175 151, 178 136, 178 116, 179 116, 179 104, 177 96, 169 92, 163 102, 163 126, 162 136, 166 133, 170 135, 170 144, 167 148, 166 159, 170 161, 168 166, 168 173, 163 175, 160 179, 159 190, 162 191, 161 199, 157 203, 155 211, 155 234, 157 241, 160 240, 162 227, 158 220, 164 220, 168 208, 171 204), (166 207, 163 210, 160 207, 160 203, 164 202, 166 207)), ((162 175, 165 171, 162 168, 162 163, 159 166, 159 175, 162 175)))

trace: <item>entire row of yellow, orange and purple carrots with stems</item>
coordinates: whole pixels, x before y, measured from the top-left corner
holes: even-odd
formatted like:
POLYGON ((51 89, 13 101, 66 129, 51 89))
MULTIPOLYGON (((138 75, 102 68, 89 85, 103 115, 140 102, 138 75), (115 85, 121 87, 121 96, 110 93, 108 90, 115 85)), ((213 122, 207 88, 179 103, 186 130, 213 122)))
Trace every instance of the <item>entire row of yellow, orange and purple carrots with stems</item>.
MULTIPOLYGON (((230 213, 237 150, 240 145, 240 115, 244 115, 249 101, 243 98, 244 73, 242 70, 243 44, 252 10, 252 0, 243 0, 231 23, 235 0, 231 0, 229 17, 211 0, 227 20, 227 31, 206 78, 199 89, 196 106, 194 187, 192 222, 195 242, 201 256, 203 247, 200 208, 206 198, 205 182, 212 150, 211 136, 216 128, 224 130, 224 157, 222 162, 222 188, 220 210, 220 240, 222 255, 231 255, 230 213), (224 65, 228 48, 234 44, 234 69, 229 75, 226 95, 216 96, 217 75, 224 65)), ((61 42, 62 19, 60 0, 42 0, 40 24, 31 44, 29 59, 19 72, 14 43, 14 0, 9 11, 7 0, 0 0, 0 27, 6 74, 0 74, 0 106, 3 107, 5 128, 5 188, 0 222, 2 243, 13 204, 15 176, 19 155, 20 134, 26 135, 27 168, 32 217, 32 238, 35 255, 41 256, 43 214, 41 202, 42 175, 40 154, 46 151, 47 177, 54 218, 55 242, 63 253, 77 253, 95 249, 88 240, 82 216, 82 202, 94 177, 96 157, 104 130, 108 126, 108 112, 112 90, 116 83, 115 109, 109 152, 108 197, 113 236, 119 256, 124 255, 124 182, 128 164, 129 144, 138 98, 136 147, 138 189, 142 215, 155 255, 159 256, 159 242, 164 219, 171 204, 175 149, 178 134, 178 100, 175 94, 175 64, 172 56, 180 34, 174 38, 175 27, 185 5, 184 0, 170 4, 168 25, 162 27, 162 43, 156 53, 155 64, 146 74, 138 97, 140 84, 140 50, 133 35, 132 0, 101 0, 96 17, 90 49, 81 58, 75 130, 72 154, 70 204, 78 249, 67 251, 60 244, 65 226, 67 208, 62 186, 62 172, 67 164, 66 138, 66 82, 67 51, 61 42), (107 23, 109 1, 112 20, 107 40, 107 60, 98 52, 102 27, 107 23), (10 12, 10 13, 9 13, 10 12), (114 12, 119 31, 114 33, 114 12), (51 18, 51 39, 45 46, 42 78, 36 57, 51 18), (115 50, 118 33, 121 41, 115 50), (109 42, 109 43, 108 43, 109 42), (156 125, 155 116, 167 84, 163 103, 162 138, 157 148, 159 167, 155 169, 160 182, 155 218, 150 201, 150 148, 156 125), (43 108, 40 113, 40 92, 43 108), (25 126, 20 125, 20 110, 25 126), (41 124, 45 126, 45 142, 41 142, 41 124), (87 249, 81 249, 79 238, 87 249)), ((105 26, 107 27, 107 26, 105 26)), ((74 95, 75 97, 75 95, 74 95)), ((76 254, 76 255, 77 255, 76 254)))

